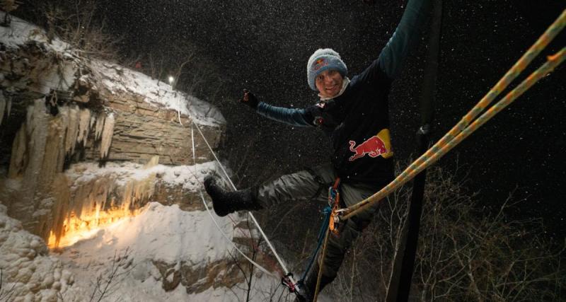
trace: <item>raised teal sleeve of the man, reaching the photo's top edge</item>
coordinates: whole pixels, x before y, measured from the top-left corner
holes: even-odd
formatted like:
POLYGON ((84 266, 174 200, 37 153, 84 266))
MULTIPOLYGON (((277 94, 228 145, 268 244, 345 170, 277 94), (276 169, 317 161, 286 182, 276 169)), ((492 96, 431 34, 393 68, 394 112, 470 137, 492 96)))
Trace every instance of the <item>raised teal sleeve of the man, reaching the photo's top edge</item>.
POLYGON ((403 67, 410 49, 417 44, 422 26, 427 20, 432 0, 409 0, 395 32, 377 59, 380 69, 395 79, 403 67))

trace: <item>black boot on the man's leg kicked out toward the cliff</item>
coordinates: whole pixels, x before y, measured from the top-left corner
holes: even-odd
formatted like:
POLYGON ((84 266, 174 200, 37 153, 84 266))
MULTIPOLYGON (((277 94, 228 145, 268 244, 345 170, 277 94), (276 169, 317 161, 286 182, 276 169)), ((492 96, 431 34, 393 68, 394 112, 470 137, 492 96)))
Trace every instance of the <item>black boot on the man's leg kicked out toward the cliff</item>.
POLYGON ((218 216, 226 216, 235 211, 262 209, 251 190, 226 191, 216 184, 211 175, 204 178, 204 189, 212 198, 212 207, 218 216))

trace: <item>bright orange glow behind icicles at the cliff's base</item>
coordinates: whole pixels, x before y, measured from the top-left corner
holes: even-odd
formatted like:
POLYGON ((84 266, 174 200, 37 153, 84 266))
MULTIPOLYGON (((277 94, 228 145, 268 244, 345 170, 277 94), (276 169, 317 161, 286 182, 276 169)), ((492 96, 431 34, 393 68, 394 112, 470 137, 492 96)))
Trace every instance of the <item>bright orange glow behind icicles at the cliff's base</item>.
POLYGON ((51 231, 47 246, 49 248, 63 248, 74 245, 79 240, 92 237, 105 226, 110 226, 112 223, 139 214, 139 211, 139 209, 134 211, 126 209, 100 211, 100 209, 96 209, 93 213, 82 214, 80 217, 71 213, 64 223, 61 238, 57 240, 56 234, 51 231))

